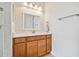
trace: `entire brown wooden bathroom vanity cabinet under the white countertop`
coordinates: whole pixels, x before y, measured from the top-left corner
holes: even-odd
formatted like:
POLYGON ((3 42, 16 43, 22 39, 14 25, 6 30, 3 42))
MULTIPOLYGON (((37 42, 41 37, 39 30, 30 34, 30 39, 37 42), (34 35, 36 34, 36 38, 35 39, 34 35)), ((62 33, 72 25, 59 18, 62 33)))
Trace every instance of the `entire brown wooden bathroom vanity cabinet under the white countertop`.
POLYGON ((52 35, 13 37, 13 57, 37 57, 51 52, 52 35))

